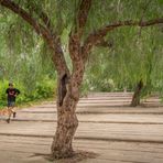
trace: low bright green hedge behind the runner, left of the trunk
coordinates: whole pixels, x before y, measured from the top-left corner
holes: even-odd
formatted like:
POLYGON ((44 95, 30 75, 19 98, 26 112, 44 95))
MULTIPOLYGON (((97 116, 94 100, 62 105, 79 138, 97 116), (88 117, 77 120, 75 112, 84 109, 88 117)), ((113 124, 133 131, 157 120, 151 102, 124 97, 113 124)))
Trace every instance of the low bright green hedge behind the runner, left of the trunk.
MULTIPOLYGON (((0 108, 7 105, 6 89, 8 88, 8 80, 0 80, 0 108)), ((15 82, 14 87, 21 91, 17 98, 18 105, 56 96, 55 79, 44 78, 40 83, 36 82, 34 86, 31 85, 31 87, 26 87, 25 84, 15 82)))

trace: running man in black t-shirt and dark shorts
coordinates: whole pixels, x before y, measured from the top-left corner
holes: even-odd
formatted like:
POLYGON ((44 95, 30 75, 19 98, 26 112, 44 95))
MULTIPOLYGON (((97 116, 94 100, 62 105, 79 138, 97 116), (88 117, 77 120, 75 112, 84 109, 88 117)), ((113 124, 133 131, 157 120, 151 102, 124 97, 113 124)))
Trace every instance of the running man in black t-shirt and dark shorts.
POLYGON ((15 98, 20 94, 20 90, 13 87, 13 84, 9 84, 9 88, 6 90, 8 94, 8 113, 9 118, 7 119, 7 122, 10 123, 11 115, 13 115, 13 118, 15 118, 17 112, 14 111, 14 105, 15 105, 15 98))

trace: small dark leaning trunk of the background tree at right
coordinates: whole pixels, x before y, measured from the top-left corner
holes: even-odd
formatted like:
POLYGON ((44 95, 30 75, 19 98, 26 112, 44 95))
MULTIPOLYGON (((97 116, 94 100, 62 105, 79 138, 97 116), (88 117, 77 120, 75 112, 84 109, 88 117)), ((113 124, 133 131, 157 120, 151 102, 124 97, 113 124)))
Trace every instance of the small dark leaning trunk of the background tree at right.
POLYGON ((131 107, 137 107, 140 105, 140 96, 141 96, 142 88, 143 88, 143 82, 140 80, 135 87, 132 101, 131 101, 131 107))

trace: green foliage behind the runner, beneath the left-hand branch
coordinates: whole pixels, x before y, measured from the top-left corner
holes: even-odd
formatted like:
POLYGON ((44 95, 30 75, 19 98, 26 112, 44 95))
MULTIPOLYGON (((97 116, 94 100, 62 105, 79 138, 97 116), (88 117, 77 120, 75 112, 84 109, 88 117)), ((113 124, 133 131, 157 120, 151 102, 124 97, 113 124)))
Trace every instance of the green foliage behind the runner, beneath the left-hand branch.
POLYGON ((0 106, 13 82, 21 90, 18 104, 55 96, 56 75, 44 42, 13 14, 0 17, 0 106))

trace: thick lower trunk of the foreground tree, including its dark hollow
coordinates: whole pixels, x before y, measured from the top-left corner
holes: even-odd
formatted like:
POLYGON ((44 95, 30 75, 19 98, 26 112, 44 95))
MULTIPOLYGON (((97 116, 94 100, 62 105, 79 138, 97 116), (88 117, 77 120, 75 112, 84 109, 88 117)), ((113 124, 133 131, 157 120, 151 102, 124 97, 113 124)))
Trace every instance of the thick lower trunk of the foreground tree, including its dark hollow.
MULTIPOLYGON (((78 127, 75 113, 76 105, 79 100, 79 78, 63 75, 58 79, 57 98, 57 128, 52 143, 52 155, 55 159, 69 157, 74 155, 73 138, 78 127)), ((79 82, 80 83, 80 82, 79 82)))

